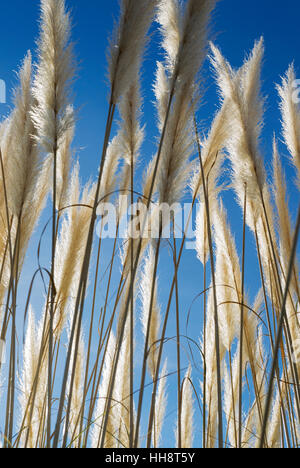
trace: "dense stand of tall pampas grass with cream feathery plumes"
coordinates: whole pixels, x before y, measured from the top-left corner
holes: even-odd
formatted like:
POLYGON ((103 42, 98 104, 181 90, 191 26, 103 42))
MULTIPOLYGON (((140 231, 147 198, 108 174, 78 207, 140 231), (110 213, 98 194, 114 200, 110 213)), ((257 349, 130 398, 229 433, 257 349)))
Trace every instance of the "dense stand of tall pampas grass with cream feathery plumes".
MULTIPOLYGON (((299 447, 300 216, 294 226, 279 135, 271 148, 272 179, 262 157, 263 39, 236 70, 210 44, 220 107, 210 128, 200 127, 199 81, 216 4, 121 1, 108 52, 98 178, 83 185, 72 147, 71 16, 64 0, 41 0, 38 61, 27 52, 14 108, 0 123, 6 448, 158 448, 170 438, 178 449, 299 447), (163 57, 153 80, 156 116, 150 116, 157 148, 147 159, 141 77, 153 27, 163 57), (239 219, 226 206, 230 192, 242 209, 239 219), (178 239, 176 211, 163 218, 161 204, 174 209, 187 198, 189 222, 178 239), (108 202, 116 223, 106 243, 108 202), (131 213, 124 230, 126 205, 134 202, 140 216, 131 213), (23 265, 44 210, 48 223, 24 294, 23 265), (186 298, 181 269, 194 214, 196 299, 186 298), (149 239, 151 228, 156 236, 149 239), (248 267, 250 255, 256 269, 248 267), (197 304, 192 331, 188 303, 197 304)), ((290 66, 277 89, 299 185, 295 79, 290 66)))

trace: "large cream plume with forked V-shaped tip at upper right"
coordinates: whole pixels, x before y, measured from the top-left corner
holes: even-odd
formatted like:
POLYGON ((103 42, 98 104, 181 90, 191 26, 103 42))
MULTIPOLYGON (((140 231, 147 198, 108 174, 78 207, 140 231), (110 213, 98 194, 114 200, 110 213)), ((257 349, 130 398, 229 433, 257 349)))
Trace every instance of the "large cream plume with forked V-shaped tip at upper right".
POLYGON ((263 197, 272 240, 275 241, 273 210, 259 150, 264 102, 260 97, 263 40, 256 43, 250 58, 236 73, 213 45, 212 51, 212 62, 216 69, 221 94, 228 103, 232 121, 232 130, 226 147, 233 168, 233 185, 242 207, 244 206, 245 188, 247 188, 246 221, 254 232, 257 231, 267 288, 270 292, 270 281, 272 281, 272 278, 269 277, 270 242, 260 203, 263 197))

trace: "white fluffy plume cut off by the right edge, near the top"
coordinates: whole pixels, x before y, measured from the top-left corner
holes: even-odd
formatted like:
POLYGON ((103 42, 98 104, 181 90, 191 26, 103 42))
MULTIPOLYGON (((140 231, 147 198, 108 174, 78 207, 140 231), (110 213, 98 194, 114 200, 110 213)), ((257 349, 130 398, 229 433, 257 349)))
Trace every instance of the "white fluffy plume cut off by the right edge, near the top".
POLYGON ((281 97, 283 136, 297 170, 297 185, 300 188, 300 109, 296 88, 295 69, 291 65, 277 89, 281 97))

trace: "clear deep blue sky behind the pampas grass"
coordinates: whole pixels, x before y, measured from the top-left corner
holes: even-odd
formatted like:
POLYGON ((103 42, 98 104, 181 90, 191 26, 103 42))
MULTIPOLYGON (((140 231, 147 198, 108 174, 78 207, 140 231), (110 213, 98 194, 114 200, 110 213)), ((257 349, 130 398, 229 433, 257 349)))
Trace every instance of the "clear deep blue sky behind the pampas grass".
MULTIPOLYGON (((83 181, 95 178, 99 164, 102 145, 103 129, 107 113, 108 88, 106 83, 106 59, 108 38, 113 21, 118 15, 117 0, 68 0, 72 10, 73 40, 75 42, 76 57, 79 62, 77 80, 74 88, 74 98, 79 109, 77 133, 74 150, 80 160, 83 181)), ((2 1, 0 28, 0 79, 7 85, 8 104, 0 104, 0 118, 8 114, 11 105, 11 90, 16 84, 15 71, 18 69, 26 51, 35 50, 35 39, 38 36, 38 0, 10 0, 2 1)), ((254 41, 261 36, 265 38, 266 56, 263 69, 263 90, 268 96, 266 107, 266 124, 263 131, 262 151, 268 163, 271 157, 273 132, 280 136, 280 114, 278 110, 278 96, 275 83, 278 83, 288 65, 294 60, 300 78, 299 56, 299 17, 300 2, 298 0, 223 0, 220 1, 213 21, 212 39, 218 44, 233 66, 240 66, 245 52, 253 47, 254 41)), ((146 54, 143 72, 144 122, 147 125, 147 142, 143 148, 143 161, 147 162, 155 151, 155 118, 152 104, 153 95, 151 85, 155 62, 161 57, 159 49, 159 35, 153 34, 151 45, 146 54)), ((199 122, 202 130, 207 129, 209 122, 218 106, 216 87, 209 67, 203 72, 204 89, 199 122)), ((287 151, 282 147, 283 155, 287 151)), ((144 164, 142 165, 144 166, 144 164)), ((285 163, 288 185, 291 191, 291 209, 295 212, 299 195, 293 187, 293 168, 285 163)), ((227 208, 230 210, 230 220, 236 230, 237 242, 241 227, 241 214, 233 203, 232 194, 226 194, 227 208)), ((46 218, 45 218, 46 219, 46 218)), ((37 238, 35 239, 36 242, 37 238)), ((253 248, 253 239, 248 236, 249 249, 253 248)), ((25 267, 27 281, 30 278, 30 264, 36 251, 36 243, 31 245, 29 258, 25 267)), ((249 255, 249 257, 251 257, 249 255)), ((163 252, 160 267, 160 277, 167 280, 170 276, 169 252, 163 252), (166 266, 168 265, 168 266, 166 266)), ((257 289, 253 282, 253 272, 257 271, 254 260, 248 258, 247 284, 252 297, 257 289)), ((185 324, 186 313, 193 299, 202 289, 202 268, 195 259, 194 252, 186 252, 180 271, 182 325, 185 324)), ((24 286, 25 291, 25 286, 24 286)), ((161 302, 164 301, 168 290, 162 288, 161 302)), ((201 303, 198 303, 201 305, 201 303)), ((194 306, 192 325, 195 329, 194 339, 200 334, 201 309, 194 306), (195 308, 196 307, 196 308, 195 308), (198 310, 197 310, 198 309, 198 310)), ((172 321, 171 321, 172 324, 172 321)), ((170 336, 174 330, 170 331, 170 336)), ((175 348, 174 348, 175 349, 175 348)), ((170 351, 170 367, 174 364, 174 349, 170 351)), ((175 381, 171 387, 175 386, 175 381)), ((172 419, 171 419, 172 421, 172 419)))

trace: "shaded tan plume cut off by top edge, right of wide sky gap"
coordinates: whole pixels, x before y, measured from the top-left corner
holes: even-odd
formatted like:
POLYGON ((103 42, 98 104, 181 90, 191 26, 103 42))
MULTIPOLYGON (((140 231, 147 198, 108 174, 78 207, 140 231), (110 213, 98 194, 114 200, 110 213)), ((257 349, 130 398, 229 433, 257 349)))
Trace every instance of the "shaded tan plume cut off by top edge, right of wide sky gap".
POLYGON ((109 50, 109 79, 115 104, 138 76, 157 5, 158 0, 121 1, 121 18, 109 50))

